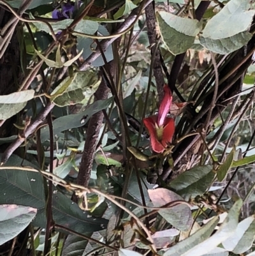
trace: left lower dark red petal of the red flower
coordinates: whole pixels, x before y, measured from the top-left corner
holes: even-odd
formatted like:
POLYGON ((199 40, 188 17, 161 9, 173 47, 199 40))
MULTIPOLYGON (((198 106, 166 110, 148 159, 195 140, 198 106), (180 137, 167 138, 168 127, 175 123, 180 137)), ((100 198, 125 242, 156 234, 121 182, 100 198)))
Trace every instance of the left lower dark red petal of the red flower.
POLYGON ((157 117, 155 116, 147 117, 143 119, 143 123, 146 126, 148 132, 150 133, 150 144, 152 146, 152 150, 156 153, 162 153, 164 151, 164 147, 159 142, 159 140, 157 140, 155 119, 157 119, 157 117))

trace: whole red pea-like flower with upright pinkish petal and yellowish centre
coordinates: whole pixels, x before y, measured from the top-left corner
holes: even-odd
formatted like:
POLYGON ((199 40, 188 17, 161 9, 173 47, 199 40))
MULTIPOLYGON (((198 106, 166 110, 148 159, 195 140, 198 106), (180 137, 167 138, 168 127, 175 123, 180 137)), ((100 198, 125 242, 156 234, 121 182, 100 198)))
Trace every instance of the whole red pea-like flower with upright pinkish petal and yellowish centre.
POLYGON ((162 153, 164 149, 166 149, 175 132, 175 120, 171 117, 167 117, 172 98, 171 91, 165 84, 164 98, 159 106, 159 114, 143 119, 143 123, 150 134, 152 150, 156 153, 162 153))

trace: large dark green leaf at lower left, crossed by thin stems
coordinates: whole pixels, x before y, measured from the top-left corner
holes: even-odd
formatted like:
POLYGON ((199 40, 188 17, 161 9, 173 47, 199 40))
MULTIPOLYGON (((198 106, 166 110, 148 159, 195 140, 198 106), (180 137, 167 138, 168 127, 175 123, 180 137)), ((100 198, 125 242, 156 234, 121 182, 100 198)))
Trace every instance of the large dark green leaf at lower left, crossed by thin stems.
MULTIPOLYGON (((37 227, 46 227, 45 190, 43 178, 38 172, 18 170, 20 166, 32 166, 31 163, 11 155, 5 166, 15 166, 17 169, 0 171, 0 204, 20 204, 38 209, 34 220, 37 227)), ((94 218, 82 211, 75 202, 54 189, 52 213, 54 222, 69 227, 69 229, 87 234, 105 228, 107 220, 94 218)))

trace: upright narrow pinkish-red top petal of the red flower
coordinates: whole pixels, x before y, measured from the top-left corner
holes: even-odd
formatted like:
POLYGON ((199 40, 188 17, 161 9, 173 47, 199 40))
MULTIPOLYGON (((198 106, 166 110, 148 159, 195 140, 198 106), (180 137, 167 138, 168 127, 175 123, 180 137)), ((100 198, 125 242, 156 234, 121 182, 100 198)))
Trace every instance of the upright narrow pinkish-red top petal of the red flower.
POLYGON ((164 85, 164 98, 159 106, 159 115, 157 117, 157 124, 159 126, 162 126, 164 123, 164 119, 166 118, 166 115, 168 114, 171 106, 171 91, 167 84, 164 85))

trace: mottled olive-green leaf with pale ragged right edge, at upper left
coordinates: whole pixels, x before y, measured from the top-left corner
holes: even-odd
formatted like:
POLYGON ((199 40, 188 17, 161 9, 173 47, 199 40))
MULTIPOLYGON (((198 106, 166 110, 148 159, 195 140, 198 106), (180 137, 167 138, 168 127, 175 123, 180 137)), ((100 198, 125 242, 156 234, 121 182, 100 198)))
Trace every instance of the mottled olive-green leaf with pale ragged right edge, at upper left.
POLYGON ((73 78, 64 79, 52 92, 53 102, 59 107, 87 103, 92 94, 98 89, 100 80, 91 71, 78 72, 73 78), (58 94, 55 96, 55 94, 58 94), (85 100, 85 102, 83 102, 85 100))

